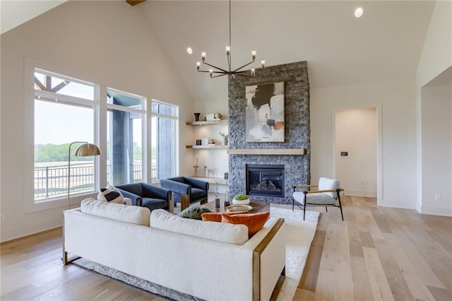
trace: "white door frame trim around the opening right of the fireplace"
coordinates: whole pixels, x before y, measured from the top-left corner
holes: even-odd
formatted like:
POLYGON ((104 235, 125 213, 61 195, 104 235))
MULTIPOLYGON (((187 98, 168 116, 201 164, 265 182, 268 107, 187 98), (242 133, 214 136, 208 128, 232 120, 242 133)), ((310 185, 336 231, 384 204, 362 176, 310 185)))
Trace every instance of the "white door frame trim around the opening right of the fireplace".
POLYGON ((348 105, 340 107, 331 107, 331 162, 333 163, 332 171, 333 175, 336 176, 336 159, 335 159, 335 149, 336 149, 336 117, 335 113, 341 110, 355 110, 355 109, 376 109, 376 205, 380 206, 381 198, 383 196, 383 148, 382 148, 382 125, 381 125, 381 103, 369 104, 369 105, 348 105))

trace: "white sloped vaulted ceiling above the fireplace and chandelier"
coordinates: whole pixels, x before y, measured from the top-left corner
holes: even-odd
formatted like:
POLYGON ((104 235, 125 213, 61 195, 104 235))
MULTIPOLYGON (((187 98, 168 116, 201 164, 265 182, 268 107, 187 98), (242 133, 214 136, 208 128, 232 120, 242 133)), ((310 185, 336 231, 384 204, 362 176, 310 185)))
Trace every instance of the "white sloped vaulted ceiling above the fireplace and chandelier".
MULTIPOLYGON (((18 1, 1 0, 2 33, 4 16, 16 20, 4 11, 7 2, 18 1)), ((34 2, 49 9, 61 1, 34 2)), ((227 66, 228 5, 148 0, 133 6, 194 100, 227 98, 227 78, 197 73, 196 60, 206 50, 207 61, 227 66)), ((433 7, 434 1, 232 1, 232 65, 248 62, 255 48, 256 67, 261 58, 268 66, 308 61, 313 88, 414 79, 433 7), (357 6, 364 8, 359 19, 357 6)))

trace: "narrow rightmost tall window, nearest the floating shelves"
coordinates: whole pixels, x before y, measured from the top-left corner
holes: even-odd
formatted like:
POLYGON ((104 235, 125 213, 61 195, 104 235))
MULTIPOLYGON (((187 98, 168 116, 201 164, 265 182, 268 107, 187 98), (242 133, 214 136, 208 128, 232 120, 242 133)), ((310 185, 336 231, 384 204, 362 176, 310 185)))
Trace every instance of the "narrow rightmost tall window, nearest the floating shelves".
POLYGON ((151 175, 153 182, 177 175, 179 108, 151 101, 151 175))

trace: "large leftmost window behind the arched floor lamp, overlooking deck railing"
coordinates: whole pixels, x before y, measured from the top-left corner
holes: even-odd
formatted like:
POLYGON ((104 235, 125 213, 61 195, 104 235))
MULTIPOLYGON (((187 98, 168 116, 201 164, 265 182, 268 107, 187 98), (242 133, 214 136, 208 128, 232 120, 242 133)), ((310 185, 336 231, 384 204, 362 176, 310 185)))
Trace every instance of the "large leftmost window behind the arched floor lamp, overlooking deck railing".
MULTIPOLYGON (((68 193, 69 144, 95 141, 97 86, 35 69, 35 203, 68 193)), ((95 191, 95 158, 76 157, 71 148, 71 194, 95 191)))

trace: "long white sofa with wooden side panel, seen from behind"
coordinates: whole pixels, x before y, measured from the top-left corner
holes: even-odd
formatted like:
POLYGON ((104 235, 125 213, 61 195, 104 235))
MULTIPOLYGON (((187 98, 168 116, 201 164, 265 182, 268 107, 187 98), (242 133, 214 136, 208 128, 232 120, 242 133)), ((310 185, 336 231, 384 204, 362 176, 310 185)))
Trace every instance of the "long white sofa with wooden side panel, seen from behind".
POLYGON ((284 220, 248 239, 245 225, 87 199, 64 211, 64 264, 68 254, 205 300, 269 300, 285 271, 284 220))

